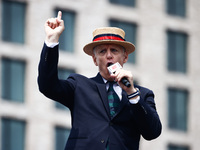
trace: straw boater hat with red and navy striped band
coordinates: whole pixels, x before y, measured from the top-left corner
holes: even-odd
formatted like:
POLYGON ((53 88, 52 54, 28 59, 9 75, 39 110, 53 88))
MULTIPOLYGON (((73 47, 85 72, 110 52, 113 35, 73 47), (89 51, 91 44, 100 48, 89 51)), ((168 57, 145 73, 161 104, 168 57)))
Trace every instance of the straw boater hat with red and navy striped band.
POLYGON ((93 32, 93 41, 83 48, 84 52, 90 56, 93 55, 93 49, 97 45, 101 44, 117 44, 126 49, 128 54, 134 52, 135 46, 125 41, 125 32, 116 27, 103 27, 97 28, 93 32))

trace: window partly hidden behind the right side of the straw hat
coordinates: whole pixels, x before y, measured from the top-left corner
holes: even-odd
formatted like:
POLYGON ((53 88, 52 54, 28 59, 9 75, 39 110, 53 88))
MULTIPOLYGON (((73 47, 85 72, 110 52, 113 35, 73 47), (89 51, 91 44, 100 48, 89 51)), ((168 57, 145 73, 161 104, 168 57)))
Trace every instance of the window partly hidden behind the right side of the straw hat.
MULTIPOLYGON (((123 29, 126 33, 125 40, 136 44, 136 31, 137 26, 133 23, 121 22, 117 20, 110 20, 110 26, 112 27, 119 27, 123 29)), ((128 56, 128 63, 135 63, 136 62, 136 51, 129 54, 128 56)))

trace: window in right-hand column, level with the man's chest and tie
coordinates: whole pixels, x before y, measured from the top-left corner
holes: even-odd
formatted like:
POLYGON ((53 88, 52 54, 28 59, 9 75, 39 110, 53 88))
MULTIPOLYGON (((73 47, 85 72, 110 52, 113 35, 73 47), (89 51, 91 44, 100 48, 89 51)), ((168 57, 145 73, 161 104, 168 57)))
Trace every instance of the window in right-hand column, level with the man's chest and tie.
POLYGON ((168 89, 168 127, 186 131, 188 114, 188 92, 186 90, 168 89))

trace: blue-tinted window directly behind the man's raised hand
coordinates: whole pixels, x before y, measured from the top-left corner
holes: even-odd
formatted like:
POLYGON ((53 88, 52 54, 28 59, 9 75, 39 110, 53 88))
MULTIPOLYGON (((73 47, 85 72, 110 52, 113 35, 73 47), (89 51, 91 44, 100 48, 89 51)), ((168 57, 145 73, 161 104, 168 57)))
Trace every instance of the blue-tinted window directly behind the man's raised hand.
MULTIPOLYGON (((60 9, 56 9, 57 14, 60 9)), ((75 13, 62 10, 62 20, 65 22, 65 30, 60 36, 59 47, 63 51, 74 52, 74 34, 75 34, 75 13)))

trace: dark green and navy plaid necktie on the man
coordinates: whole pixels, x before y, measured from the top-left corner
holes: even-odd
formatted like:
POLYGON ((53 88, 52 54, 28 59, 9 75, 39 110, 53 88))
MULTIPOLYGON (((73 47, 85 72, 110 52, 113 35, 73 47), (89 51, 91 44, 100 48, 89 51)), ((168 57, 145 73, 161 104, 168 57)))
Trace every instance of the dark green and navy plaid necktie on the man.
POLYGON ((119 108, 120 100, 117 93, 113 89, 113 84, 116 82, 109 81, 108 83, 108 102, 110 107, 110 115, 113 117, 119 108))

